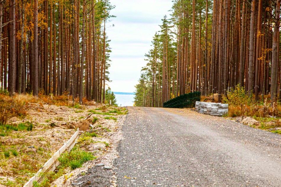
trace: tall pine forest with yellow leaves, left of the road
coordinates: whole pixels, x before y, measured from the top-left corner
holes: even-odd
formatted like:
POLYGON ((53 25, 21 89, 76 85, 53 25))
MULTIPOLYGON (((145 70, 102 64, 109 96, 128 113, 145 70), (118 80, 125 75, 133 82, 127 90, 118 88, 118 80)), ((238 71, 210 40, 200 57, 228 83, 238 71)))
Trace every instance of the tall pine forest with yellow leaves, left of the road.
POLYGON ((1 0, 0 89, 105 101, 108 0, 1 0))

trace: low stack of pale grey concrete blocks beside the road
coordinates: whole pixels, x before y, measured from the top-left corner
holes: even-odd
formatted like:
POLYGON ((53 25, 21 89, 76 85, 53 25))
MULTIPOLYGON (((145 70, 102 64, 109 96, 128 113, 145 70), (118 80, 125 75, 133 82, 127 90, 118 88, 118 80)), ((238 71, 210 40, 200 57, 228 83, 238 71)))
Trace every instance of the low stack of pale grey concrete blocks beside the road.
POLYGON ((228 104, 196 101, 195 109, 197 112, 202 114, 223 116, 228 113, 228 104))

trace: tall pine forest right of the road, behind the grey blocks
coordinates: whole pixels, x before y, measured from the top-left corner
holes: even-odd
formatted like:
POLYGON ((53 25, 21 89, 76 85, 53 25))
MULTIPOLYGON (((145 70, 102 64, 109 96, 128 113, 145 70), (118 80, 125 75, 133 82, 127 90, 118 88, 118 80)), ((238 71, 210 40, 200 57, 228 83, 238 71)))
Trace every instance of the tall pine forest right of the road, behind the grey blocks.
POLYGON ((146 54, 135 105, 200 91, 218 102, 237 85, 281 100, 280 0, 175 0, 146 54), (278 96, 279 94, 279 96, 278 96))

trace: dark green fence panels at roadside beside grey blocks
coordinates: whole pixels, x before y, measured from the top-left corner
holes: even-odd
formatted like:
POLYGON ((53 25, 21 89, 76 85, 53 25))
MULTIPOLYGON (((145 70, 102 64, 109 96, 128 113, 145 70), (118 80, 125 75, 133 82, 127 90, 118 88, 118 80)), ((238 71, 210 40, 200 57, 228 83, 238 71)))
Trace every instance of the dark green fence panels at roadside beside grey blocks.
POLYGON ((195 102, 200 101, 201 92, 190 92, 180 95, 163 103, 164 108, 194 108, 195 102))

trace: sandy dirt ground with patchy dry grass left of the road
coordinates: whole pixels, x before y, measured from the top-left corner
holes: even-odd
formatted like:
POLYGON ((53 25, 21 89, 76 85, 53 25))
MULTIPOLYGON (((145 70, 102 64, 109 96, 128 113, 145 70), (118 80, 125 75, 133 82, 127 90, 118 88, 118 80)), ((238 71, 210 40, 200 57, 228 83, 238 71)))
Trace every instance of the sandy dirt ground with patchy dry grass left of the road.
MULTIPOLYGON (((82 142, 81 147, 83 150, 92 152, 98 159, 86 165, 101 161, 101 155, 109 153, 109 150, 114 146, 115 140, 111 137, 114 137, 112 135, 118 129, 117 124, 122 121, 122 116, 124 116, 113 113, 111 115, 114 116, 114 120, 104 119, 108 115, 104 115, 101 110, 98 110, 101 106, 100 104, 92 104, 72 108, 28 103, 28 115, 23 119, 10 118, 7 124, 32 123, 32 131, 11 131, 6 136, 0 136, 0 187, 23 186, 74 134, 77 128, 79 128, 81 135, 92 129, 90 124, 94 126, 95 131, 100 133, 100 136, 93 137, 92 142, 94 143, 90 145, 83 145, 84 142, 82 142), (97 111, 98 114, 93 112, 94 114, 89 117, 90 110, 97 111), (89 118, 85 119, 86 117, 89 118), (93 124, 94 118, 96 118, 96 122, 93 124), (106 147, 104 142, 109 143, 109 146, 106 147), (5 152, 9 152, 8 157, 5 152)), ((116 108, 109 108, 109 110, 116 110, 116 108)), ((114 153, 110 154, 114 155, 114 153)), ((106 160, 106 157, 114 157, 110 154, 103 158, 106 160)), ((79 168, 79 170, 83 168, 79 168)), ((59 179, 55 183, 57 183, 56 186, 60 186, 59 179)))

